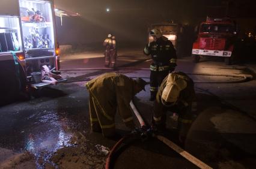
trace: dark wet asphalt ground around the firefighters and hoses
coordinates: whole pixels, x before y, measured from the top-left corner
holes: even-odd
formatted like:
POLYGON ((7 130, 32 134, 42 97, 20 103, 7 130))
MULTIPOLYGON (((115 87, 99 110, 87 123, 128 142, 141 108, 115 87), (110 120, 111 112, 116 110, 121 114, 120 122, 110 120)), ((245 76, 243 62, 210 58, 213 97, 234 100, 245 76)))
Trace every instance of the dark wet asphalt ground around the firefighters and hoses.
MULTIPOLYGON (((140 59, 142 61, 137 62, 136 65, 131 64, 132 68, 148 67, 150 62, 147 61, 147 58, 141 56, 140 59)), ((93 62, 92 60, 89 62, 93 62)), ((120 62, 126 63, 126 61, 120 62)), ((73 69, 74 64, 70 63, 70 69, 73 69)), ((93 64, 90 63, 90 65, 93 64)), ((99 65, 94 64, 94 67, 99 67, 99 65)), ((206 62, 206 64, 198 67, 191 64, 189 59, 184 59, 178 65, 177 70, 197 73, 203 69, 203 73, 212 73, 213 70, 210 67, 215 67, 214 72, 216 74, 227 74, 227 71, 218 69, 218 67, 225 67, 219 61, 210 62, 210 64, 206 62)), ((69 70, 69 67, 66 66, 66 70, 69 70)), ((67 77, 70 83, 46 87, 38 91, 35 97, 29 101, 15 101, 0 107, 0 147, 14 152, 31 152, 35 155, 37 168, 44 168, 45 165, 39 162, 40 159, 51 163, 50 157, 56 150, 63 147, 85 146, 76 143, 77 135, 81 133, 86 137, 87 141, 85 143, 88 144, 86 146, 93 151, 90 156, 105 159, 106 156, 100 154, 102 152, 99 152, 97 145, 103 145, 110 149, 117 139, 108 140, 99 133, 91 133, 88 118, 88 92, 83 81, 90 80, 108 71, 112 70, 64 71, 63 76, 67 77)), ((144 80, 147 81, 149 77, 149 71, 147 70, 121 70, 120 68, 116 71, 129 77, 144 77, 144 80)), ((228 71, 228 74, 242 73, 240 70, 233 68, 233 72, 228 71)), ((209 80, 211 82, 237 80, 230 77, 201 76, 194 76, 193 79, 197 82, 202 80, 204 82, 209 80)), ((255 90, 254 85, 255 82, 237 85, 196 84, 195 122, 192 129, 190 129, 184 146, 185 149, 213 168, 253 168, 256 159, 255 116, 251 111, 236 104, 236 100, 230 99, 230 97, 233 97, 232 92, 234 92, 230 87, 234 87, 236 93, 237 89, 241 89, 242 92, 237 93, 237 97, 243 100, 247 96, 246 92, 255 90), (236 123, 228 119, 233 119, 233 122, 236 123), (238 126, 234 127, 235 125, 238 126)), ((149 86, 146 87, 146 90, 147 92, 138 93, 134 102, 145 120, 150 123, 153 104, 148 101, 149 86)), ((253 100, 254 96, 248 99, 248 101, 253 100)), ((252 105, 250 106, 252 107, 252 105)), ((125 135, 129 133, 118 115, 116 123, 118 134, 125 135)), ((172 119, 171 112, 168 114, 167 123, 168 132, 165 133, 165 136, 178 143, 177 131, 175 130, 177 122, 172 119)), ((99 165, 91 164, 87 167, 104 167, 104 161, 94 161, 94 163, 99 163, 99 165)), ((52 165, 58 168, 58 165, 52 165)), ((115 168, 197 167, 170 150, 165 144, 160 143, 155 138, 150 138, 144 142, 136 141, 132 146, 124 149, 115 160, 115 168)))

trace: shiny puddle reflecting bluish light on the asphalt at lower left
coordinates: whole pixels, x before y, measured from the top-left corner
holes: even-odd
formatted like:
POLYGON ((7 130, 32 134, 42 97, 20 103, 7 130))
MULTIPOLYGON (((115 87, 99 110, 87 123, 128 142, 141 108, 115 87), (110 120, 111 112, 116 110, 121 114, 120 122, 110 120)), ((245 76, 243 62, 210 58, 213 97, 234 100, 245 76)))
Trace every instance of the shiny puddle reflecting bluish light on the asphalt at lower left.
POLYGON ((51 164, 49 159, 53 152, 72 146, 70 124, 73 122, 55 111, 44 110, 39 115, 30 116, 35 122, 27 135, 24 149, 35 156, 37 168, 44 168, 46 162, 51 164))

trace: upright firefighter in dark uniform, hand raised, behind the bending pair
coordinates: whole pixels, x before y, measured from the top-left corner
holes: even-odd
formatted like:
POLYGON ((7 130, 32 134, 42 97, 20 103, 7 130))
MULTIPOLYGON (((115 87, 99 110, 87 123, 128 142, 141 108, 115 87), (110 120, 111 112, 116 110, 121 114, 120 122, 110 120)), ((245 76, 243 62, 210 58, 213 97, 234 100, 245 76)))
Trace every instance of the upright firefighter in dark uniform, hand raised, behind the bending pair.
POLYGON ((151 55, 153 63, 150 65, 150 101, 156 99, 157 89, 169 72, 176 67, 176 51, 171 41, 163 37, 158 29, 150 31, 154 41, 147 44, 145 55, 151 55))

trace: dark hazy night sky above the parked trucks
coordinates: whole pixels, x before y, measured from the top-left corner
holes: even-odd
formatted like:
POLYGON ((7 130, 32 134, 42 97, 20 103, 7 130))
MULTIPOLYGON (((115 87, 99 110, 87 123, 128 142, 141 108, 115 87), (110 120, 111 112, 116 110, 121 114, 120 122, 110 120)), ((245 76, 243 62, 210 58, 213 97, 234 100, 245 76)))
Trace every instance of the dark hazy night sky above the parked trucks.
POLYGON ((97 43, 109 33, 119 41, 143 42, 152 23, 173 20, 195 26, 207 16, 256 17, 252 0, 55 0, 55 5, 81 14, 79 19, 64 18, 58 26, 61 43, 97 43))

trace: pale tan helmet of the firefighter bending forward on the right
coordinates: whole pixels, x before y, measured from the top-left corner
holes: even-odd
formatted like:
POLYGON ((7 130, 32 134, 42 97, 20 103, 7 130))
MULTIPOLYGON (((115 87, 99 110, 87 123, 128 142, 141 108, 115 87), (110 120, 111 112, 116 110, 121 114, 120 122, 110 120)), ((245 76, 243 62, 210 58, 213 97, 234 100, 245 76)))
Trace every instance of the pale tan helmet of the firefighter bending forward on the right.
POLYGON ((187 82, 180 75, 176 73, 170 73, 167 78, 166 86, 162 92, 162 103, 171 104, 177 101, 181 90, 187 87, 187 82))

